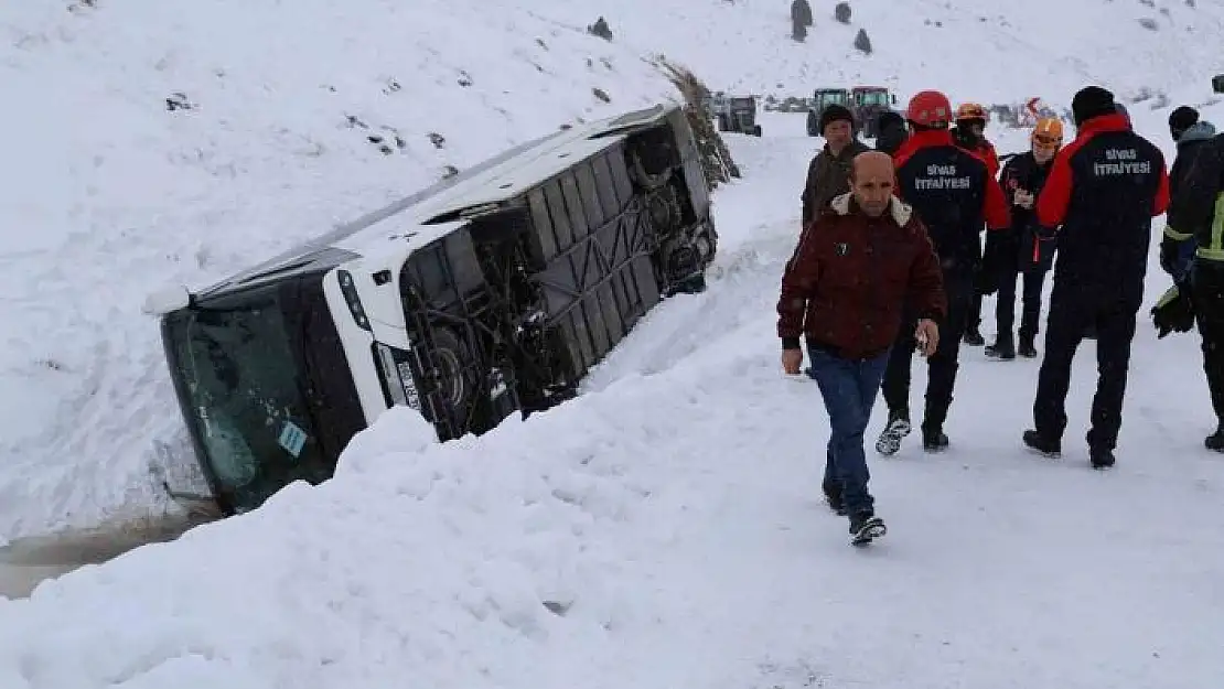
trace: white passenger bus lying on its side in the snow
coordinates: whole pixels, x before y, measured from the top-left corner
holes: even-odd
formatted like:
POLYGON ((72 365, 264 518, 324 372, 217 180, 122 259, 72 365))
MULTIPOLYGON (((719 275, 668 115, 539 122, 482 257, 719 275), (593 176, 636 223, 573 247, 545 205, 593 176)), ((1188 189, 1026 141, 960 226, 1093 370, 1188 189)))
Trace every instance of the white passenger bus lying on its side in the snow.
POLYGON ((392 405, 441 441, 548 409, 717 234, 676 105, 513 148, 198 292, 151 297, 223 513, 332 476, 392 405))

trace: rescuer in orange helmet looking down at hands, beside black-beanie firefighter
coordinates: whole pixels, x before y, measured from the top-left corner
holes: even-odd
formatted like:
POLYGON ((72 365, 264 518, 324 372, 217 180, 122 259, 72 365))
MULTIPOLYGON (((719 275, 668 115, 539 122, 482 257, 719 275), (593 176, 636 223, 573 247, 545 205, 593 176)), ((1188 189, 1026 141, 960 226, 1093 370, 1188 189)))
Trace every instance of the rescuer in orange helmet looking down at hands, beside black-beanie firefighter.
POLYGON ((1043 117, 1029 136, 1032 148, 1007 160, 999 182, 1011 206, 1011 226, 987 235, 983 269, 993 278, 999 292, 995 308, 998 332, 995 343, 985 349, 990 359, 1016 359, 1016 283, 1023 275, 1022 315, 1020 321, 1020 355, 1037 356, 1037 333, 1042 312, 1042 285, 1054 262, 1054 240, 1043 239, 1037 231, 1033 204, 1045 186, 1054 155, 1062 147, 1062 121, 1043 117))

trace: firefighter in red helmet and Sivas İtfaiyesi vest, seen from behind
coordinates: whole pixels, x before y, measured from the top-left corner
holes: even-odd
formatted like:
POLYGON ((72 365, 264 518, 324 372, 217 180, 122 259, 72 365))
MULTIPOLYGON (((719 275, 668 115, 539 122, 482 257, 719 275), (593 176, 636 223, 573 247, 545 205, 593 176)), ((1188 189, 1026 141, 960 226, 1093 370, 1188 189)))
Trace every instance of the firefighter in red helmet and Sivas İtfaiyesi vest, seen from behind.
MULTIPOLYGON (((972 307, 974 275, 982 261, 979 235, 985 226, 998 230, 1011 223, 1007 199, 984 160, 952 141, 947 97, 923 91, 909 102, 906 119, 913 133, 897 151, 897 193, 912 206, 930 234, 942 269, 947 318, 939 349, 928 359, 927 409, 922 422, 923 448, 947 447, 944 421, 952 404, 961 338, 972 307)), ((892 346, 884 374, 884 399, 889 425, 875 449, 891 455, 909 434, 909 367, 914 351, 912 328, 902 328, 892 346)))

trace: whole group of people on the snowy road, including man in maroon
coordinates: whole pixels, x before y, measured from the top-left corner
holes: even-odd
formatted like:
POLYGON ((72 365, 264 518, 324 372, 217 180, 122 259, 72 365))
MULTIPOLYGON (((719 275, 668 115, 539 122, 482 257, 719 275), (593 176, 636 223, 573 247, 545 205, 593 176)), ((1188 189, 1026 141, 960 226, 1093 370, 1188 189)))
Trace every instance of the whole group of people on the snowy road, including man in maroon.
POLYGON ((1174 286, 1151 316, 1160 338, 1198 326, 1219 419, 1204 445, 1224 452, 1224 135, 1195 109, 1176 108, 1170 170, 1105 88, 1080 89, 1071 114, 1071 141, 1060 119, 1039 119, 1029 149, 1007 157, 1000 170, 985 137, 987 110, 966 103, 953 111, 938 91, 914 94, 903 115, 881 115, 874 148, 856 138, 848 109, 821 111, 825 146, 808 168, 777 335, 783 371, 814 379, 824 399, 831 433, 823 490, 829 507, 848 516, 852 543, 886 532, 868 490, 864 449, 878 392, 889 414, 875 450, 892 455, 912 431, 918 351, 929 373, 922 444, 927 452, 949 447, 945 421, 961 346, 987 345, 983 297, 998 300, 985 355, 1036 359, 1051 269, 1033 423, 1017 441, 1060 455, 1072 359, 1083 339, 1095 339, 1088 461, 1114 465, 1152 222, 1162 214, 1160 266, 1174 286))

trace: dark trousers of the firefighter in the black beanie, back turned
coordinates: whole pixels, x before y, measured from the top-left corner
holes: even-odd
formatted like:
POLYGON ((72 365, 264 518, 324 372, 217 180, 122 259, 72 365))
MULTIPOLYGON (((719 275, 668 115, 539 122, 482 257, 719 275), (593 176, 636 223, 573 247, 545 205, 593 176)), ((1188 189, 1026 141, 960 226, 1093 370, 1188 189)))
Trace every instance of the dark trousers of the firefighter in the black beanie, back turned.
POLYGON ((1043 437, 1062 438, 1067 425, 1071 361, 1084 332, 1095 328, 1097 394, 1092 398, 1092 428, 1087 439, 1094 449, 1113 450, 1118 445, 1141 295, 1142 289, 1070 284, 1055 277, 1045 332, 1045 357, 1037 377, 1037 399, 1033 401, 1033 421, 1043 437))

